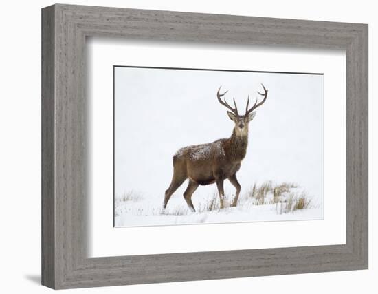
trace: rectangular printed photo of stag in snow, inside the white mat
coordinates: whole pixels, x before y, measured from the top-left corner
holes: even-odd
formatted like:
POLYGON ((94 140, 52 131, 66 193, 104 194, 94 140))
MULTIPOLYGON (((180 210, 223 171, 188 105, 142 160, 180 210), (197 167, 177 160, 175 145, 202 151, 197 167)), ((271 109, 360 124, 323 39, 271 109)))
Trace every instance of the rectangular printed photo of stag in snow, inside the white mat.
POLYGON ((115 65, 113 105, 115 227, 323 218, 323 74, 115 65))

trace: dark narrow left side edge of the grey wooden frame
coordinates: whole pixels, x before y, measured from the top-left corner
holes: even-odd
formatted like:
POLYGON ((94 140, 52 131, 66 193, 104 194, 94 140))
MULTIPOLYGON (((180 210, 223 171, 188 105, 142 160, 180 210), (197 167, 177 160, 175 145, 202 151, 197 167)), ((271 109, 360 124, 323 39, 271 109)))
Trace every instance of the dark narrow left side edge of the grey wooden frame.
POLYGON ((42 284, 55 285, 54 7, 42 14, 42 284))

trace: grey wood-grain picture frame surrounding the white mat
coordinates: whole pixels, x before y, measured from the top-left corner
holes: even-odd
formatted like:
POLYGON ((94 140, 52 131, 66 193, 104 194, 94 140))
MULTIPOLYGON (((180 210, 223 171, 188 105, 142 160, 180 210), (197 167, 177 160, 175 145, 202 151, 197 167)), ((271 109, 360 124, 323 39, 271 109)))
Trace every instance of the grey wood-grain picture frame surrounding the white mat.
POLYGON ((79 288, 368 268, 368 25, 49 6, 42 10, 42 114, 45 286, 79 288), (86 36, 346 50, 346 244, 87 258, 86 36))

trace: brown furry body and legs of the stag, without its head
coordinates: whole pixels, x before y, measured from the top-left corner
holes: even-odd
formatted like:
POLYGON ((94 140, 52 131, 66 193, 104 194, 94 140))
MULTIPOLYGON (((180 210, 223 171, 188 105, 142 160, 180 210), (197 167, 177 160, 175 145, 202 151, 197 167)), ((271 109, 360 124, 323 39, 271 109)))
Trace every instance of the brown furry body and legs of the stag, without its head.
POLYGON ((241 160, 247 153, 248 134, 237 136, 232 132, 230 138, 219 139, 213 143, 192 145, 179 149, 173 156, 173 178, 166 190, 164 208, 170 196, 188 178, 189 185, 184 192, 184 198, 190 209, 194 210, 191 196, 199 185, 210 185, 216 182, 223 208, 223 180, 229 179, 236 188, 234 205, 238 200, 240 185, 236 178, 236 172, 241 167, 241 160))

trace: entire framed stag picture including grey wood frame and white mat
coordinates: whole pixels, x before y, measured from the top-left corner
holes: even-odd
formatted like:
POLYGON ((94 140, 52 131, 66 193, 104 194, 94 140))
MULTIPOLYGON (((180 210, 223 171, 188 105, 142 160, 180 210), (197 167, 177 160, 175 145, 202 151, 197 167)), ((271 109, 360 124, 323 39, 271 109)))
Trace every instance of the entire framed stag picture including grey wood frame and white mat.
POLYGON ((368 268, 368 25, 57 4, 42 61, 43 285, 368 268))

